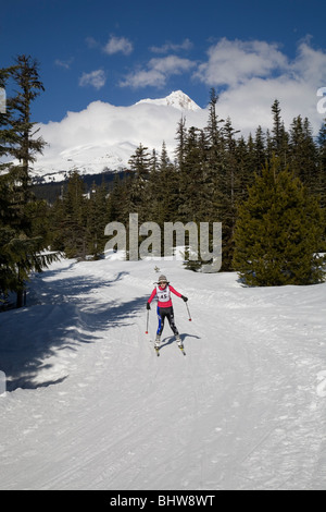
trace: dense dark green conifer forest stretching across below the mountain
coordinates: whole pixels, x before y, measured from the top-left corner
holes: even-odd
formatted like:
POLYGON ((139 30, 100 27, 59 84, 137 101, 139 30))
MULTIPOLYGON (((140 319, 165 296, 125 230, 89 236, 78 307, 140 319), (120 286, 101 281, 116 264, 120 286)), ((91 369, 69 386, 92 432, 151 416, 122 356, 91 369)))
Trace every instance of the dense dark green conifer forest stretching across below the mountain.
MULTIPOLYGON (((60 254, 101 257, 105 225, 128 227, 133 212, 139 223, 162 229, 165 222, 222 222, 222 270, 238 270, 248 284, 323 279, 316 254, 326 246, 325 122, 317 137, 300 114, 286 130, 275 99, 272 130, 258 126, 244 138, 230 119, 220 118, 212 89, 206 126, 186 127, 181 117, 174 155, 164 141, 159 153, 140 144, 123 173, 86 183, 76 171, 64 184, 35 188, 30 169, 46 143, 30 121, 43 90, 37 62, 20 56, 0 70, 0 87, 8 81, 16 94, 0 112, 0 292, 16 292, 17 306, 30 272, 60 254)), ((187 267, 201 265, 189 260, 187 267)))

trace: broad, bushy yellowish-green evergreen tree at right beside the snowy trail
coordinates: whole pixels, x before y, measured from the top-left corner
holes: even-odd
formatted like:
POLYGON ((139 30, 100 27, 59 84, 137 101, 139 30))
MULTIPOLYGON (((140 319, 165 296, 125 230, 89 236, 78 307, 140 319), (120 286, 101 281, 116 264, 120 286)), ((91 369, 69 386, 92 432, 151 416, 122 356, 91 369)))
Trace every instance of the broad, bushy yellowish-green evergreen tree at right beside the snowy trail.
POLYGON ((274 158, 239 208, 234 268, 250 285, 319 282, 322 235, 317 200, 274 158))

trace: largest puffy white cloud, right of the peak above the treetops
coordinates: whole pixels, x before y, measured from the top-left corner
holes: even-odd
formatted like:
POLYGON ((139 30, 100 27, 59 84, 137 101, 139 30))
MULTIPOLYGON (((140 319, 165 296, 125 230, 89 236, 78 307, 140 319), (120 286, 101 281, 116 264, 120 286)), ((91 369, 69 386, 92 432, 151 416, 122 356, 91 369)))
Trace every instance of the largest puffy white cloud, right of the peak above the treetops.
POLYGON ((221 39, 208 51, 208 61, 193 73, 215 87, 221 118, 230 117, 243 135, 261 125, 271 127, 271 107, 278 99, 281 117, 289 129, 293 118, 306 117, 317 133, 323 117, 317 111, 316 93, 326 85, 326 53, 310 40, 300 41, 293 59, 266 41, 221 39))

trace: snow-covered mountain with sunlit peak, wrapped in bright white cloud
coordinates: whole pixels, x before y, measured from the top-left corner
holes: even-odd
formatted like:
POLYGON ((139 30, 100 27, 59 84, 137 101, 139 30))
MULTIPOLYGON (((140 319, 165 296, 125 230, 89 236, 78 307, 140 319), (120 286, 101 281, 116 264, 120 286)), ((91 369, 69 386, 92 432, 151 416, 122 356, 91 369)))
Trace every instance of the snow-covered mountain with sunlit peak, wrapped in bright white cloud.
POLYGON ((80 174, 127 167, 139 144, 168 151, 175 148, 175 132, 180 115, 189 125, 203 126, 206 111, 181 90, 166 98, 143 99, 130 107, 95 101, 80 112, 67 112, 61 122, 40 124, 48 143, 34 166, 38 182, 62 181, 77 169, 80 174))

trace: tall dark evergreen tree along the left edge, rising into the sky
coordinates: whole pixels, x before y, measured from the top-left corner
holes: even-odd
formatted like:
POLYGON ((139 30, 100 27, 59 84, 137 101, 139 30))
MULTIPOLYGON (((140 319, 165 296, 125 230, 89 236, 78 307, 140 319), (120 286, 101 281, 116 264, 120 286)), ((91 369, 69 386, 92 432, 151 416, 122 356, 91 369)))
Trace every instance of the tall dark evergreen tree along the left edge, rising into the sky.
POLYGON ((29 168, 41 153, 45 142, 35 138, 37 130, 32 122, 32 102, 43 90, 39 80, 38 64, 30 57, 20 56, 14 66, 1 70, 1 76, 13 80, 15 96, 7 99, 7 112, 1 114, 0 156, 15 158, 18 164, 3 162, 0 167, 7 170, 3 178, 8 196, 9 215, 2 210, 0 225, 5 234, 2 239, 2 265, 9 270, 10 280, 0 287, 16 292, 17 307, 23 305, 25 282, 32 271, 41 271, 55 256, 45 254, 46 241, 34 232, 34 197, 30 193, 29 168))

